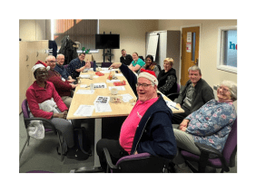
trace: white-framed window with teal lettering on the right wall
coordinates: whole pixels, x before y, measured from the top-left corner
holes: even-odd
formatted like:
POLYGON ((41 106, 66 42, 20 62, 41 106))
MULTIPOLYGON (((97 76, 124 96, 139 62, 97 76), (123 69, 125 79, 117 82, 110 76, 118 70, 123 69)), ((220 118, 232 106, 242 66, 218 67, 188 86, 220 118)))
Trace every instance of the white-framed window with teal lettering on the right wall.
POLYGON ((219 29, 217 69, 237 73, 237 27, 219 29))

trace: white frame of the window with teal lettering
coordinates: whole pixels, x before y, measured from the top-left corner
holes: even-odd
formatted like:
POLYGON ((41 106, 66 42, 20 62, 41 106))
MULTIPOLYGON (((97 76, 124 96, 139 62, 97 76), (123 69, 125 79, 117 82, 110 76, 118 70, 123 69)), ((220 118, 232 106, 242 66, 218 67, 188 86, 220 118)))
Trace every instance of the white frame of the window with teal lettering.
POLYGON ((219 27, 218 32, 218 51, 217 51, 217 69, 226 71, 226 72, 234 72, 237 73, 237 67, 232 67, 228 65, 223 64, 223 58, 224 58, 224 31, 228 30, 237 30, 237 25, 233 26, 223 26, 219 27))

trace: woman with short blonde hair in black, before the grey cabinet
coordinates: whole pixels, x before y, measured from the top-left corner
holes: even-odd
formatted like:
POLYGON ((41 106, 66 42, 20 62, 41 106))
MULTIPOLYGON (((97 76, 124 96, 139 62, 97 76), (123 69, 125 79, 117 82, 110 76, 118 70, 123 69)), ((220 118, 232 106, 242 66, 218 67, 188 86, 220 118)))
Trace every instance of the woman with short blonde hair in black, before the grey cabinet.
POLYGON ((158 90, 164 95, 177 92, 177 76, 176 71, 172 68, 172 58, 163 60, 163 70, 158 75, 158 90))

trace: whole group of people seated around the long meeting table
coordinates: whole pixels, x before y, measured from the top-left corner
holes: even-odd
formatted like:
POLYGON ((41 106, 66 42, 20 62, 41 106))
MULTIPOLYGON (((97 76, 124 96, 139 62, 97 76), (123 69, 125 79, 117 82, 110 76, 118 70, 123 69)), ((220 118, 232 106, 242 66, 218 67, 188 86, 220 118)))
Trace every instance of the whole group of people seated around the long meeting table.
MULTIPOLYGON (((50 55, 45 63, 36 62, 33 67, 35 82, 26 91, 28 106, 34 117, 51 120, 64 136, 67 157, 76 159, 83 159, 83 152, 74 144, 73 130, 79 128, 81 123, 73 120, 71 124, 65 118, 72 101, 72 91, 76 87, 73 82, 84 68, 91 67, 90 62, 84 62, 84 57, 84 53, 79 54, 66 70, 63 66, 63 54, 57 55, 56 61, 50 55), (52 98, 59 113, 39 108, 39 103, 52 98)), ((166 95, 177 91, 172 58, 163 61, 162 71, 159 71, 151 55, 146 57, 144 63, 138 58, 138 53, 133 53, 132 58, 122 50, 120 61, 113 63, 111 67, 120 69, 137 96, 137 101, 123 122, 119 140, 100 139, 96 145, 104 171, 106 160, 103 148, 109 150, 113 163, 123 156, 143 152, 170 158, 175 163, 176 172, 191 172, 179 151, 186 149, 200 155, 194 142, 210 145, 222 152, 231 125, 236 120, 236 110, 232 104, 237 99, 236 83, 223 81, 217 89, 216 101, 212 88, 202 79, 200 68, 192 66, 188 70, 190 80, 186 82, 176 101, 184 112, 172 114, 162 94, 157 92, 161 91, 166 95), (172 124, 179 124, 178 129, 173 129, 172 124)))

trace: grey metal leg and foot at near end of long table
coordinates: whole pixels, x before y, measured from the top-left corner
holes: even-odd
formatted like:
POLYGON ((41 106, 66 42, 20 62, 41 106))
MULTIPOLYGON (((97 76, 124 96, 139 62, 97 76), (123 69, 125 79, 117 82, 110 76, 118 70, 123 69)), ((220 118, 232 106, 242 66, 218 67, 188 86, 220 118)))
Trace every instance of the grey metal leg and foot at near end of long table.
POLYGON ((95 119, 94 124, 94 167, 84 167, 70 170, 71 173, 94 173, 103 172, 100 160, 96 151, 96 144, 99 139, 102 139, 102 119, 95 119))

